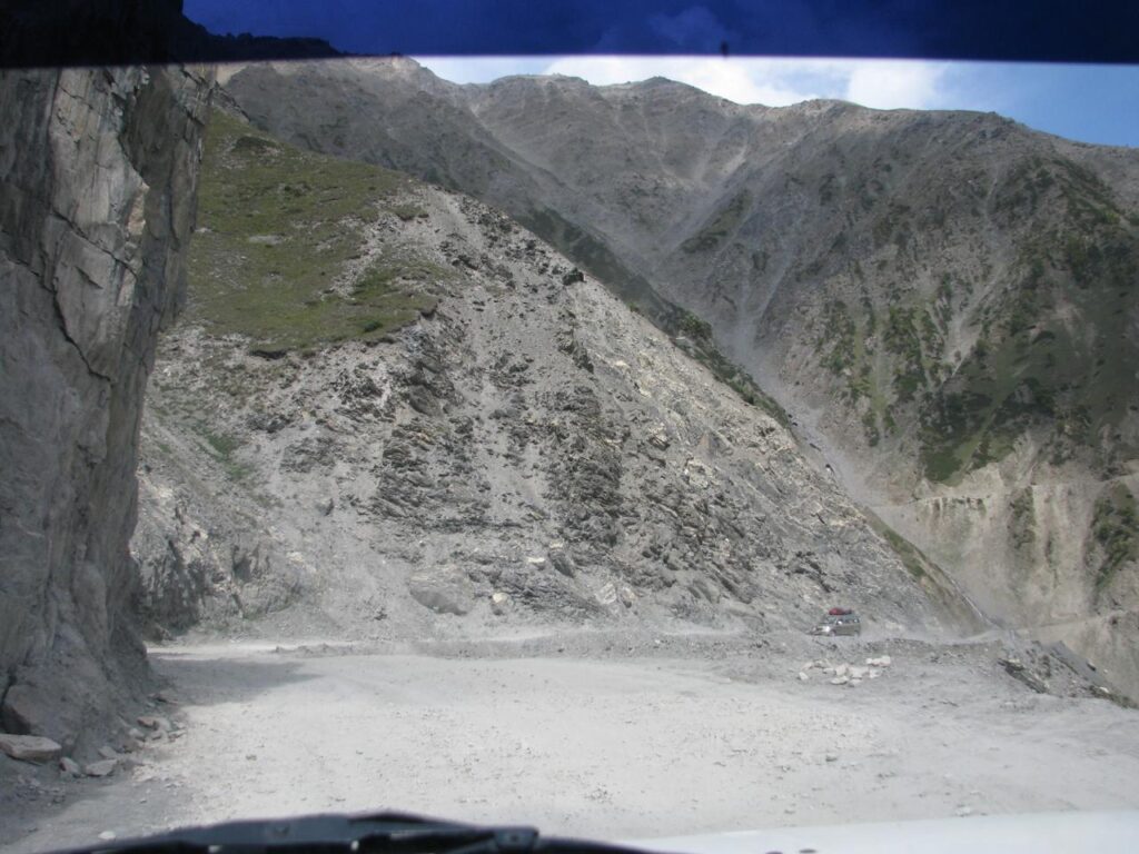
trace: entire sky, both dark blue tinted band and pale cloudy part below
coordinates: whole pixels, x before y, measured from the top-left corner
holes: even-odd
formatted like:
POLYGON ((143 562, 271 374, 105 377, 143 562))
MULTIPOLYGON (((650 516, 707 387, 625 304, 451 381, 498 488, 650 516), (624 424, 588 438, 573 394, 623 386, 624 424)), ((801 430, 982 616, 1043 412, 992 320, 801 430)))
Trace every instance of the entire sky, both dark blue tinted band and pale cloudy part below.
POLYGON ((216 33, 313 35, 350 52, 429 56, 436 73, 458 82, 549 69, 596 83, 659 73, 744 102, 819 96, 875 107, 994 110, 1070 139, 1139 146, 1139 65, 936 59, 1075 54, 1139 60, 1139 2, 1121 6, 1123 13, 1112 13, 1112 3, 1096 13, 1087 3, 1039 0, 1030 15, 1017 14, 1025 8, 1019 3, 949 6, 954 15, 941 18, 928 17, 936 3, 918 0, 186 0, 185 10, 216 33), (724 43, 728 63, 720 57, 724 43), (788 46, 924 61, 772 65, 740 56, 786 54, 788 46), (459 61, 473 54, 498 57, 459 61), (624 56, 601 67, 559 59, 566 54, 624 56), (662 58, 649 73, 638 56, 646 54, 688 56, 662 58), (693 55, 705 58, 694 63, 693 55))

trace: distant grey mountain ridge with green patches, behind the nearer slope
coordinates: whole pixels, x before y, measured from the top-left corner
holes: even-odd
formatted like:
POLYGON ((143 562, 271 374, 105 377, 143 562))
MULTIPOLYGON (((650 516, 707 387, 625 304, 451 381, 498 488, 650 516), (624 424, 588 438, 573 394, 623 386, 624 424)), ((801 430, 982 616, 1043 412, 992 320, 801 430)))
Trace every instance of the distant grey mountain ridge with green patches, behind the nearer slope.
POLYGON ((262 126, 491 202, 714 337, 989 614, 1139 691, 1134 150, 665 80, 458 87, 407 59, 228 88, 262 126))

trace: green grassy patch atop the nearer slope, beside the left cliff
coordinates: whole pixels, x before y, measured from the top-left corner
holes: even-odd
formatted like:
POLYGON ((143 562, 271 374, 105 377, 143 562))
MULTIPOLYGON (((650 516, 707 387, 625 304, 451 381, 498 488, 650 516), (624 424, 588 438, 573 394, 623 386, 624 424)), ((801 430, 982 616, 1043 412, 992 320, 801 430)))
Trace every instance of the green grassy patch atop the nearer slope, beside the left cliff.
POLYGON ((363 251, 364 225, 407 179, 303 151, 214 110, 190 246, 188 315, 252 350, 282 353, 387 335, 435 306, 424 284, 449 274, 383 258, 342 293, 331 284, 363 251))

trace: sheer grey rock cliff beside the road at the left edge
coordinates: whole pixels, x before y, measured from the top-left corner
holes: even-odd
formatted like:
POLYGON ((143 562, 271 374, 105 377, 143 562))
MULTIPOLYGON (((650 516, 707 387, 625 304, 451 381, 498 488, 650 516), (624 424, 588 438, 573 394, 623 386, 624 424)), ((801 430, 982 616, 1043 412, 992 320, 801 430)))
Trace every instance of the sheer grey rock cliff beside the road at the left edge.
POLYGON ((177 67, 0 74, 0 721, 67 749, 144 666, 139 419, 210 87, 177 67))

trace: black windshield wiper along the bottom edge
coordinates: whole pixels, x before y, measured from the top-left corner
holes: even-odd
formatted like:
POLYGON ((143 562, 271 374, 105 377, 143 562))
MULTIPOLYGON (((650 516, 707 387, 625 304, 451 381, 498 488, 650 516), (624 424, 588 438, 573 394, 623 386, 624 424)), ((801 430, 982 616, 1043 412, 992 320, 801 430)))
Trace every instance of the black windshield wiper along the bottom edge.
POLYGON ((542 837, 528 827, 483 827, 402 813, 338 813, 267 821, 231 821, 167 834, 100 841, 79 852, 378 852, 379 854, 637 854, 636 849, 581 839, 542 837))

